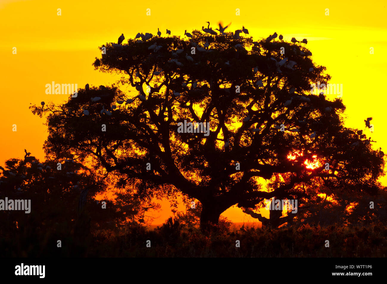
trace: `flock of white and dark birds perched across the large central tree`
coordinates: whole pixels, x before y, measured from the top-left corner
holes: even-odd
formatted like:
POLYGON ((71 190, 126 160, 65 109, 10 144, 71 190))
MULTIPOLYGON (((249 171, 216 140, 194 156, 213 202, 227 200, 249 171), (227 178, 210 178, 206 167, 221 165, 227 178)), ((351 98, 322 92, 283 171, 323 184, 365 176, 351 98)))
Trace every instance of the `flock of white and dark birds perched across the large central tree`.
MULTIPOLYGON (((207 23, 208 25, 207 25, 206 28, 205 28, 204 26, 202 26, 202 31, 204 31, 206 34, 210 34, 210 35, 217 35, 217 32, 216 32, 216 31, 218 31, 219 34, 224 34, 224 31, 225 31, 225 30, 230 26, 230 24, 231 24, 231 23, 230 23, 230 24, 228 24, 227 26, 223 27, 222 24, 219 23, 219 29, 213 30, 212 27, 210 27, 210 22, 206 22, 206 23, 207 23)), ((158 37, 161 37, 161 31, 160 31, 160 29, 158 28, 157 30, 158 30, 158 31, 157 31, 158 37)), ((238 29, 238 30, 235 31, 235 33, 233 34, 233 38, 234 38, 234 39, 239 39, 241 33, 243 33, 243 34, 248 34, 248 29, 246 29, 244 26, 242 26, 241 29, 238 29)), ((171 35, 171 31, 168 30, 168 29, 166 29, 166 34, 167 34, 167 36, 170 36, 170 35, 171 35)), ((190 34, 189 32, 187 32, 187 30, 184 31, 184 35, 187 36, 188 38, 192 38, 192 34, 190 34)), ((137 33, 136 36, 135 36, 135 39, 138 39, 138 40, 137 40, 138 43, 142 43, 142 42, 144 42, 144 41, 147 41, 148 39, 151 39, 152 37, 153 37, 153 35, 152 35, 151 33, 147 33, 147 32, 146 32, 145 34, 143 34, 143 33, 137 33)), ((280 34, 280 35, 278 36, 277 32, 274 32, 274 34, 272 34, 272 35, 270 35, 269 37, 267 37, 267 38, 265 39, 265 41, 266 41, 266 42, 270 42, 270 41, 272 41, 272 40, 275 40, 277 37, 278 37, 278 39, 279 39, 281 42, 283 41, 283 35, 280 34)), ((121 36, 118 37, 118 44, 119 44, 119 45, 122 45, 122 42, 123 42, 124 39, 125 39, 124 35, 121 34, 121 36)), ((297 41, 295 37, 292 37, 291 42, 292 42, 292 43, 298 43, 299 45, 301 45, 301 43, 303 43, 303 44, 307 44, 307 43, 308 43, 307 39, 303 39, 302 41, 297 41)), ((194 46, 195 46, 195 43, 193 43, 193 44, 194 44, 194 46)), ((260 49, 258 48, 259 43, 258 43, 257 41, 254 41, 253 44, 254 44, 254 46, 252 47, 252 50, 260 51, 260 49)), ((198 50, 198 51, 205 51, 205 50, 206 50, 205 48, 208 48, 208 47, 209 47, 209 43, 208 43, 208 41, 206 41, 206 43, 204 44, 204 48, 200 47, 200 46, 197 45, 197 44, 196 44, 196 47, 197 47, 197 50, 198 50)), ((242 47, 241 44, 236 44, 236 45, 235 45, 235 48, 241 48, 241 47, 242 47)), ((158 46, 157 43, 154 43, 154 44, 152 44, 151 46, 149 46, 148 49, 152 49, 153 51, 158 51, 158 50, 161 49, 161 48, 162 48, 162 46, 158 46)), ((183 51, 184 51, 183 49, 178 49, 178 50, 176 50, 176 52, 175 52, 174 54, 175 54, 175 55, 178 55, 178 54, 183 53, 183 51)), ((301 55, 303 55, 303 54, 305 54, 305 53, 301 52, 301 55)), ((306 54, 306 55, 312 55, 312 53, 308 53, 308 54, 306 54)), ((188 61, 191 61, 191 62, 194 61, 194 59, 193 59, 191 56, 189 56, 188 54, 185 55, 185 58, 186 58, 188 61)), ((292 61, 292 60, 288 61, 288 58, 287 58, 287 57, 284 58, 283 60, 280 60, 280 61, 277 61, 275 58, 272 58, 272 57, 271 57, 270 59, 276 62, 275 64, 276 64, 276 67, 277 67, 277 71, 278 71, 279 73, 282 73, 282 71, 280 70, 280 68, 281 68, 282 66, 285 66, 286 68, 288 68, 288 69, 290 69, 290 70, 294 70, 293 67, 294 67, 294 65, 297 64, 295 61, 292 61)), ((183 64, 180 63, 180 62, 179 62, 178 60, 176 60, 176 59, 171 59, 169 62, 175 62, 176 65, 178 65, 178 66, 183 66, 183 64)), ((229 61, 225 62, 225 64, 226 64, 226 65, 229 65, 229 61)), ((161 71, 162 71, 162 70, 161 70, 161 71)), ((253 72, 254 72, 254 73, 257 73, 257 71, 258 71, 258 68, 255 67, 254 70, 253 70, 253 72)), ((313 68, 309 68, 309 72, 311 72, 311 71, 313 71, 313 68)), ((159 75, 159 74, 160 74, 160 71, 155 71, 155 72, 154 72, 154 75, 159 75)), ((137 76, 137 77, 140 77, 138 71, 137 71, 137 73, 136 73, 136 76, 137 76)), ((196 84, 196 83, 194 83, 194 84, 196 84)), ((258 82, 256 83, 256 85, 257 85, 258 87, 263 87, 263 86, 264 86, 263 83, 262 83, 262 80, 258 81, 258 82)), ((101 85, 101 86, 99 86, 99 88, 102 89, 102 88, 104 88, 104 86, 101 85)), ((140 90, 140 88, 141 88, 141 86, 136 86, 136 89, 137 89, 137 90, 140 90)), ((86 92, 89 90, 89 84, 86 84, 85 90, 86 90, 86 92)), ((175 90, 173 90, 172 92, 173 92, 173 95, 175 95, 175 97, 178 97, 178 96, 181 95, 180 93, 175 92, 175 90)), ((295 89, 292 88, 292 89, 290 90, 290 94, 294 94, 294 93, 295 93, 295 89)), ((324 93, 321 93, 320 95, 324 95, 324 93)), ((132 103, 135 99, 137 99, 137 98, 139 98, 141 101, 146 100, 146 97, 144 97, 144 95, 139 94, 137 97, 135 97, 135 98, 133 98, 133 99, 128 99, 128 100, 126 100, 125 102, 126 102, 126 104, 131 104, 131 103, 132 103)), ((298 97, 298 96, 297 96, 297 97, 291 97, 291 99, 286 100, 286 102, 284 103, 284 107, 289 107, 289 106, 292 104, 293 99, 295 99, 295 100, 301 100, 301 101, 310 103, 310 99, 309 99, 308 97, 305 97, 305 96, 298 97)), ((92 101, 92 102, 97 102, 98 100, 101 100, 101 97, 93 97, 93 98, 91 98, 91 101, 92 101)), ((123 104, 124 101, 123 101, 123 100, 118 100, 117 103, 118 103, 118 104, 123 104)), ((41 105, 42 105, 42 108, 43 108, 43 106, 45 105, 45 102, 41 102, 41 105)), ((111 110, 114 110, 114 109, 116 109, 116 105, 111 106, 111 110)), ((84 114, 85 116, 88 116, 88 115, 90 114, 89 111, 86 110, 86 109, 83 109, 83 108, 82 108, 82 111, 83 111, 83 114, 84 114)), ((324 111, 325 111, 325 112, 331 112, 331 111, 332 111, 332 107, 325 107, 325 108, 324 108, 324 111)), ((107 110, 107 109, 105 109, 104 106, 103 106, 103 108, 102 108, 102 110, 101 110, 101 114, 103 114, 103 113, 107 114, 108 116, 111 116, 111 115, 112 115, 112 112, 109 111, 109 110, 107 110)), ((247 117, 245 117, 245 119, 243 119, 244 122, 245 122, 245 121, 248 121, 248 120, 250 120, 250 116, 247 116, 247 117)), ((366 128, 367 128, 367 127, 368 127, 369 129, 372 128, 372 126, 370 125, 370 121, 371 121, 371 120, 372 120, 372 117, 368 117, 366 120, 364 120, 364 121, 365 121, 365 124, 366 124, 366 128)), ((299 121, 300 124, 302 124, 303 122, 304 122, 304 121, 299 121)), ((305 123, 305 122, 304 122, 304 123, 305 123)), ((281 128, 279 125, 276 125, 276 126, 274 126, 274 127, 277 128, 277 129, 280 129, 280 128, 281 128)), ((298 128, 295 128, 295 129, 286 129, 286 130, 287 130, 287 131, 291 131, 291 132, 299 132, 299 131, 300 131, 298 128)), ((259 131, 259 129, 253 129, 253 131, 257 132, 257 131, 259 131)), ((363 136, 365 136, 365 135, 363 135, 363 136)), ((316 132, 313 132, 313 133, 310 135, 310 138, 311 138, 311 139, 316 138, 316 132)), ((375 142, 375 141, 371 141, 371 140, 369 139, 369 140, 366 140, 366 142, 368 142, 368 143, 366 143, 366 144, 369 144, 370 142, 375 142)), ((228 145, 229 145, 229 140, 225 141, 224 146, 227 147, 228 145)), ((358 145, 359 145, 358 142, 354 142, 351 146, 358 146, 358 145)), ((381 149, 380 149, 380 150, 381 150, 381 149)))

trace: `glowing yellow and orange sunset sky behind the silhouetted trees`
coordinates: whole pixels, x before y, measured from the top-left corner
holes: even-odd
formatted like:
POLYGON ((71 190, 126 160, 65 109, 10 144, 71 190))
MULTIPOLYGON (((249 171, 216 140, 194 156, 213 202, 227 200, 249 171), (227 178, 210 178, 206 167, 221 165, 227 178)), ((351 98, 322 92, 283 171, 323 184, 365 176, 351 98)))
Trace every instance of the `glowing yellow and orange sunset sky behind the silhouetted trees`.
MULTIPOLYGON (((330 83, 343 85, 345 125, 364 130, 364 119, 373 117, 371 137, 377 141, 373 147, 382 147, 387 153, 387 115, 382 99, 387 77, 385 3, 0 0, 0 165, 9 158, 22 158, 24 148, 44 160, 42 146, 48 134, 45 120, 34 116, 28 107, 30 103, 61 103, 68 98, 46 95, 47 83, 77 83, 84 88, 86 83, 99 86, 118 80, 118 75, 103 74, 92 67, 94 58, 100 57, 98 46, 116 43, 122 33, 126 39, 137 32, 155 35, 158 28, 162 36, 166 28, 173 35, 183 36, 185 29, 201 29, 206 21, 214 29, 219 21, 224 25, 231 22, 226 31, 243 25, 255 40, 274 32, 286 41, 292 37, 308 39, 307 48, 315 64, 327 67, 330 83), (236 15, 236 9, 240 9, 240 15, 236 15), (325 15, 325 9, 329 9, 329 15, 325 15), (17 54, 12 54, 14 47, 17 54), (370 47, 374 54, 370 54, 370 47), (12 131, 13 124, 17 125, 16 132, 12 131)), ((365 133, 370 134, 368 130, 365 133)), ((387 177, 381 181, 387 186, 387 177)), ((179 209, 184 207, 182 204, 179 209)), ((172 214, 168 202, 162 202, 162 209, 153 213, 159 216, 154 224, 163 223, 172 214)), ((269 211, 263 213, 268 216, 269 211)), ((222 215, 234 222, 255 220, 237 207, 222 215)))

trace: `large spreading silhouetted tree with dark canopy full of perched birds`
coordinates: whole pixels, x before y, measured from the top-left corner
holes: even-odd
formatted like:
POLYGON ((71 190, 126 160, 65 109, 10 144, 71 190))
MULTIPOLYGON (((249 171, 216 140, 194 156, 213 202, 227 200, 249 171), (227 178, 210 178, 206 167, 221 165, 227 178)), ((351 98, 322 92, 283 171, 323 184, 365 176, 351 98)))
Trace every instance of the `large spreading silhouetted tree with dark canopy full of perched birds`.
POLYGON ((251 211, 271 197, 315 194, 317 185, 378 190, 384 155, 343 126, 341 99, 312 94, 311 83, 330 76, 305 46, 193 31, 190 39, 128 39, 104 49, 94 66, 121 74, 115 85, 34 107, 49 113, 49 156, 92 158, 140 198, 178 191, 196 198, 202 228, 235 204, 251 211), (180 133, 184 121, 209 123, 208 136, 180 133), (276 175, 262 187, 259 178, 276 175))

